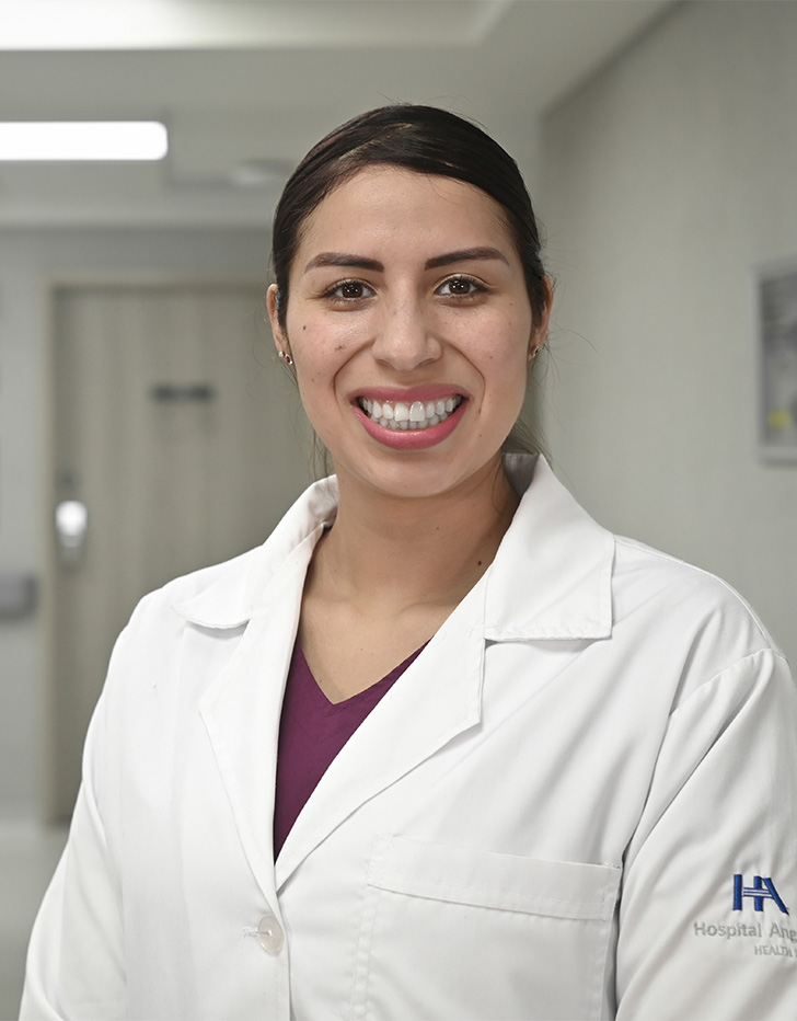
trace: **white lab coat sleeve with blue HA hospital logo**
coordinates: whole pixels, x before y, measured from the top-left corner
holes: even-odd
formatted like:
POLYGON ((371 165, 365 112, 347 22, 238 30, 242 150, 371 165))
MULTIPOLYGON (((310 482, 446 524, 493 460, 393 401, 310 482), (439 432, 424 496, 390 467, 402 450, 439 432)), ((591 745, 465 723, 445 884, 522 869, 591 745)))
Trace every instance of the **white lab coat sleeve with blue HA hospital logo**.
POLYGON ((797 697, 772 650, 673 711, 625 860, 619 1021, 797 1018, 797 697))

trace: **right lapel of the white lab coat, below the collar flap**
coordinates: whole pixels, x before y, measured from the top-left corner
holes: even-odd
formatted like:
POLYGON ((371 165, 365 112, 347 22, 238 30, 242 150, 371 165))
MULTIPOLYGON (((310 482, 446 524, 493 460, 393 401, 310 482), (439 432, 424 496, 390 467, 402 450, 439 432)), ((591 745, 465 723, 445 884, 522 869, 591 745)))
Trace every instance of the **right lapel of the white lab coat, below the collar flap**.
POLYGON ((360 805, 480 722, 484 592, 483 578, 331 764, 279 853, 278 891, 360 805))

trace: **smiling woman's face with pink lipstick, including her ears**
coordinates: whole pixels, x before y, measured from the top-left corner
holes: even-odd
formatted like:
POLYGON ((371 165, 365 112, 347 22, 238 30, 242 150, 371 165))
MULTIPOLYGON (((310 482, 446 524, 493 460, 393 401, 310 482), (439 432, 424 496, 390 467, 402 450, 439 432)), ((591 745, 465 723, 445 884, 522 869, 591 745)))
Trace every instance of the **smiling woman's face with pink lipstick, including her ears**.
POLYGON ((499 451, 550 299, 534 323, 495 199, 450 177, 362 169, 303 221, 286 290, 285 314, 278 286, 269 290, 275 337, 290 351, 344 498, 366 497, 353 491, 358 482, 457 500, 476 472, 503 482, 499 451))

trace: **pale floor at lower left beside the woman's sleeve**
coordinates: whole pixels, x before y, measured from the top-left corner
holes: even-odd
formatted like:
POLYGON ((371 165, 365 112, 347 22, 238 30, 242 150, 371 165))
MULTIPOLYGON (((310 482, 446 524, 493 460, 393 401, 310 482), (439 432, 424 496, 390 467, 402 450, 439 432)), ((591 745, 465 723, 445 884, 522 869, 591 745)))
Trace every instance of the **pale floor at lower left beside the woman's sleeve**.
POLYGON ((19 1016, 25 951, 66 830, 0 818, 0 1021, 19 1016))

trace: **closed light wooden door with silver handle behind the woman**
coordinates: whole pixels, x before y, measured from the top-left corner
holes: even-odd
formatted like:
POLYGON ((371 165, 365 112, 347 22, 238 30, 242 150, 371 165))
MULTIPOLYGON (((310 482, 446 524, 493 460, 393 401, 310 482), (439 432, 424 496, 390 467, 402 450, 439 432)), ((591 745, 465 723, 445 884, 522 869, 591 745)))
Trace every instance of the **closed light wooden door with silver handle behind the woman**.
POLYGON ((88 722, 136 601, 268 535, 309 481, 262 288, 53 291, 47 814, 70 814, 88 722))

